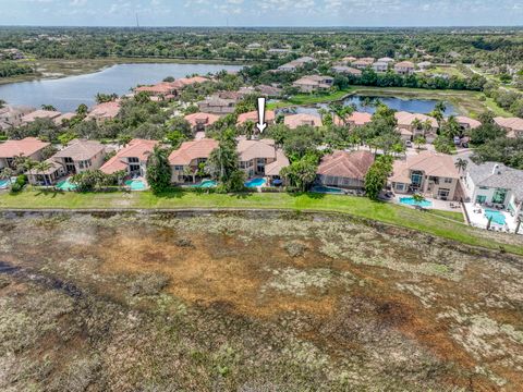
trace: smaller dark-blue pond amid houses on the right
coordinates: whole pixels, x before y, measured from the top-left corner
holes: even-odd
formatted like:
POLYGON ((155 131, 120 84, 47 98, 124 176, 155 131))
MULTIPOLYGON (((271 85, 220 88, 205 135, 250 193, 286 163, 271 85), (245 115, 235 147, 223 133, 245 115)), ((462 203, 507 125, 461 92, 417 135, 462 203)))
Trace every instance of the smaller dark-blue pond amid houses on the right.
MULTIPOLYGON (((369 96, 351 96, 343 100, 343 105, 354 105, 357 111, 374 113, 378 103, 385 103, 389 108, 398 111, 408 111, 412 113, 429 113, 436 107, 439 100, 437 99, 410 99, 410 98, 397 98, 397 97, 369 97, 369 96)), ((445 102, 446 110, 445 115, 459 114, 455 108, 445 102)), ((326 103, 319 103, 315 107, 299 107, 295 108, 296 113, 318 114, 320 108, 328 108, 326 103)))

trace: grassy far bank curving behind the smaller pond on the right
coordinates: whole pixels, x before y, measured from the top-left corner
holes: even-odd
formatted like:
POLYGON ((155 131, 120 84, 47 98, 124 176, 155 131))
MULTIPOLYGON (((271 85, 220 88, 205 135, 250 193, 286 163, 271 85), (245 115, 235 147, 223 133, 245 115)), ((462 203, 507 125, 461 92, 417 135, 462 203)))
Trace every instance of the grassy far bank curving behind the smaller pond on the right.
POLYGON ((367 95, 375 97, 396 97, 405 99, 438 99, 445 100, 458 110, 460 114, 477 117, 486 110, 491 110, 496 115, 510 117, 511 114, 498 107, 496 102, 485 98, 479 91, 465 90, 430 90, 424 88, 409 88, 409 87, 360 87, 353 86, 351 88, 336 91, 328 95, 311 95, 300 94, 288 100, 269 103, 269 109, 283 108, 300 105, 315 105, 321 102, 331 102, 344 98, 346 95, 367 95))

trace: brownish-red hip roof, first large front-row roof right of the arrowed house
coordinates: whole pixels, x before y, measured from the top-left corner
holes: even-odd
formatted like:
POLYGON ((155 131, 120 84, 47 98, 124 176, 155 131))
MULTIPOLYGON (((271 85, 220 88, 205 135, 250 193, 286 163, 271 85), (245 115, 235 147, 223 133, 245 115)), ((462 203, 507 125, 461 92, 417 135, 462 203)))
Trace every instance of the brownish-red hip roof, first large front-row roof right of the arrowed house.
POLYGON ((374 154, 370 151, 335 151, 321 159, 317 174, 365 180, 373 163, 374 154))

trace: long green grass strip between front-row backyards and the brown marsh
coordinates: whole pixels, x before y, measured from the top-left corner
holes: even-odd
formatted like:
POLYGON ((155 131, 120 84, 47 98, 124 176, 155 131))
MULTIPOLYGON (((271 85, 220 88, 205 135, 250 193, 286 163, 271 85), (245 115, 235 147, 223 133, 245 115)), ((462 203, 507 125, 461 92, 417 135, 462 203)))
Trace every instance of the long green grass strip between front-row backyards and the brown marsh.
POLYGON ((135 193, 42 193, 25 191, 17 195, 0 195, 0 209, 289 209, 296 211, 343 212, 428 234, 455 240, 469 245, 523 255, 523 242, 514 235, 497 234, 470 228, 458 222, 453 213, 421 212, 363 197, 287 193, 253 193, 240 195, 196 194, 172 191, 155 196, 150 192, 135 193), (449 219, 450 218, 450 219, 449 219))

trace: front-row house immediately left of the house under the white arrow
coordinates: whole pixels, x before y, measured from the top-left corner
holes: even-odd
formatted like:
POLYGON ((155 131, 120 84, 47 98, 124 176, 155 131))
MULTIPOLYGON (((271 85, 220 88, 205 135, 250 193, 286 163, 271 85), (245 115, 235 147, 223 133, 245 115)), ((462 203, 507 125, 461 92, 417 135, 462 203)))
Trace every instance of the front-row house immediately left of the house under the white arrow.
POLYGON ((218 142, 211 138, 182 143, 169 156, 169 164, 172 172, 171 182, 184 183, 187 181, 187 176, 195 182, 200 163, 207 162, 210 152, 216 148, 218 148, 218 142))

